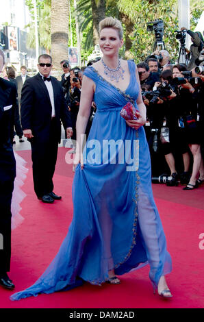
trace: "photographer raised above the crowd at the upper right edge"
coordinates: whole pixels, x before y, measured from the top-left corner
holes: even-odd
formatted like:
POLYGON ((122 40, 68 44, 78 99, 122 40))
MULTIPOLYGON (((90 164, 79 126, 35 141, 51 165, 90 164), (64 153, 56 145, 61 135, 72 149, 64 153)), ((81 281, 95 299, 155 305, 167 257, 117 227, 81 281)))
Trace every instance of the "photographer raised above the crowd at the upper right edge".
POLYGON ((188 53, 188 59, 190 59, 190 62, 188 64, 188 70, 190 71, 191 69, 196 66, 196 59, 199 58, 200 53, 203 49, 203 36, 201 32, 192 32, 191 30, 188 30, 185 27, 181 28, 181 31, 186 30, 187 34, 191 36, 192 40, 192 45, 190 46, 190 50, 186 48, 186 52, 188 53))

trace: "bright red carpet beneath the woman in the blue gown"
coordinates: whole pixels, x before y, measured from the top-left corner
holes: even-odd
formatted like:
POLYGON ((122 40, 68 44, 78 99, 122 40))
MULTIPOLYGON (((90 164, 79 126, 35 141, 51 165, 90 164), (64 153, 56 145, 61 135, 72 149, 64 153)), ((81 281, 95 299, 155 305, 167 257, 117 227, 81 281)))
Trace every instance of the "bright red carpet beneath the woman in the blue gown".
POLYGON ((121 277, 121 284, 92 286, 10 301, 12 293, 31 286, 44 272, 66 236, 71 223, 73 204, 72 166, 65 164, 67 149, 60 148, 55 171, 55 193, 62 201, 53 205, 36 199, 31 174, 31 152, 18 151, 28 161, 29 173, 23 190, 22 225, 12 233, 10 277, 15 291, 0 288, 0 308, 203 308, 204 250, 199 249, 199 235, 204 233, 204 185, 194 191, 179 187, 153 185, 155 201, 166 233, 173 272, 167 276, 173 298, 166 301, 153 295, 149 268, 121 277))

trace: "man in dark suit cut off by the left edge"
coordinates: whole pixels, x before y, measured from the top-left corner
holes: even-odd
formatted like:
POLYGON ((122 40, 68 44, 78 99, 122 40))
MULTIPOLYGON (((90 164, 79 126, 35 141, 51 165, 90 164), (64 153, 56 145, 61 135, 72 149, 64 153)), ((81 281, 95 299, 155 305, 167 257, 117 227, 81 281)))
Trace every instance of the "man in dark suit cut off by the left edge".
MULTIPOLYGON (((4 64, 0 50, 0 72, 4 64)), ((7 275, 11 256, 11 202, 16 177, 16 161, 12 149, 16 85, 0 77, 0 285, 14 289, 7 275)))

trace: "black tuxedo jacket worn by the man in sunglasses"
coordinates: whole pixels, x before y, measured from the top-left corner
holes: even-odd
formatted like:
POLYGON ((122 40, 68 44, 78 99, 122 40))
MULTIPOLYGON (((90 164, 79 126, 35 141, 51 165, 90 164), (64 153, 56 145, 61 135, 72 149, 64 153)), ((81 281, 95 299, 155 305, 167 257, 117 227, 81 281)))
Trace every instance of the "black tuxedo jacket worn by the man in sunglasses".
MULTIPOLYGON (((62 85, 51 76, 55 103, 56 138, 61 140, 61 121, 64 129, 72 127, 71 113, 68 111, 62 85)), ((49 92, 40 74, 27 79, 21 92, 21 124, 23 129, 31 129, 36 138, 49 140, 51 128, 51 101, 49 92)))

